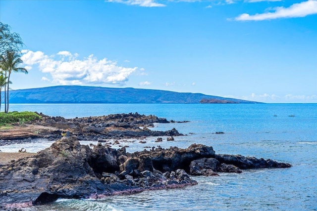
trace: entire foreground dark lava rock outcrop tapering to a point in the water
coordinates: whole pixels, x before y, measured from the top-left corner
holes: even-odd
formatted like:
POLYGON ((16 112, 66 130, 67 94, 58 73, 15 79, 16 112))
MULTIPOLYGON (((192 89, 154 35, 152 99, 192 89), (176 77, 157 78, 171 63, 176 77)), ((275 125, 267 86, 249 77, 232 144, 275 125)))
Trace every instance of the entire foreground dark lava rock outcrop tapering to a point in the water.
POLYGON ((99 143, 91 149, 76 136, 0 167, 3 209, 30 207, 58 198, 104 198, 196 185, 189 175, 241 173, 242 169, 289 168, 290 164, 241 155, 216 155, 211 146, 192 144, 127 153, 99 143))

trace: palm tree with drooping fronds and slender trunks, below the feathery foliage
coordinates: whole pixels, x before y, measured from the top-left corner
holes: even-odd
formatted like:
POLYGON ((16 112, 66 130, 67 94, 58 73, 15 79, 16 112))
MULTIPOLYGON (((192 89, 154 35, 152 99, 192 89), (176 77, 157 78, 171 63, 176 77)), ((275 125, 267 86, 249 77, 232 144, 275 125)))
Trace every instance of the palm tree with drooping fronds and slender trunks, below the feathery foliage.
MULTIPOLYGON (((18 67, 23 61, 20 58, 20 54, 14 51, 6 51, 5 55, 1 56, 1 69, 5 71, 4 77, 7 76, 7 89, 6 89, 6 96, 4 93, 4 105, 6 103, 5 113, 9 111, 9 81, 11 73, 25 73, 28 74, 28 71, 25 68, 18 67)), ((5 86, 4 86, 5 87, 5 86)), ((4 88, 5 91, 5 88, 4 88)))

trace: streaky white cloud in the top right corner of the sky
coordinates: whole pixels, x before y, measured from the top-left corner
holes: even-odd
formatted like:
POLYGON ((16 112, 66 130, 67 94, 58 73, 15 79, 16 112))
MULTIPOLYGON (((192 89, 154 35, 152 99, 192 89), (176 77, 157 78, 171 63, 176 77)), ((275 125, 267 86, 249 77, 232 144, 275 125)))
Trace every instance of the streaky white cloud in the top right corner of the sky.
POLYGON ((236 21, 262 21, 277 18, 295 18, 305 17, 307 15, 317 14, 317 0, 308 0, 300 3, 294 3, 290 7, 275 7, 274 12, 265 12, 262 14, 249 15, 244 13, 235 18, 236 21))

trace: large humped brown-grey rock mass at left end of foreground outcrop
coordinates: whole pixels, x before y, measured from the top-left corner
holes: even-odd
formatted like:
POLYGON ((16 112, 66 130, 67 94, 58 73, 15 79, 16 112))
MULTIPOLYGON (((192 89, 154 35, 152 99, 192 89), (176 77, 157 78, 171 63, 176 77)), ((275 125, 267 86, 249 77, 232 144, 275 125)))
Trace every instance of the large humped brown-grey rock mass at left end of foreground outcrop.
POLYGON ((80 145, 74 137, 63 137, 35 156, 2 168, 0 204, 34 205, 58 197, 88 197, 97 188, 103 189, 87 162, 91 154, 89 146, 80 145), (10 189, 14 193, 3 194, 10 189))

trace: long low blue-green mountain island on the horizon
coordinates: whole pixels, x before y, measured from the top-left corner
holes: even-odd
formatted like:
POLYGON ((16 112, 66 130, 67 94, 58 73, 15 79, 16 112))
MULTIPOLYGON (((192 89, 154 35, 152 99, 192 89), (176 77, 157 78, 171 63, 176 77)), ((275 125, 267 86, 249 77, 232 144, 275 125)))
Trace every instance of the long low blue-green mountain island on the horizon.
POLYGON ((9 97, 10 103, 200 103, 202 99, 213 99, 213 103, 257 103, 201 93, 77 85, 10 90, 9 97))

